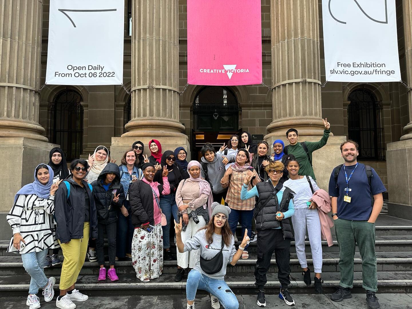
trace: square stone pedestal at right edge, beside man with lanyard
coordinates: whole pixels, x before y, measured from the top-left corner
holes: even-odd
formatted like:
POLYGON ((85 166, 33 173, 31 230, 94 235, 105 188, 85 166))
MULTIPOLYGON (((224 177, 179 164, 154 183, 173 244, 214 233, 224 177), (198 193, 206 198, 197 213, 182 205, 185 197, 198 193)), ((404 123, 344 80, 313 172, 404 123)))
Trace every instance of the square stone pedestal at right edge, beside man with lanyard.
POLYGON ((388 214, 412 220, 412 140, 389 143, 386 150, 388 214))

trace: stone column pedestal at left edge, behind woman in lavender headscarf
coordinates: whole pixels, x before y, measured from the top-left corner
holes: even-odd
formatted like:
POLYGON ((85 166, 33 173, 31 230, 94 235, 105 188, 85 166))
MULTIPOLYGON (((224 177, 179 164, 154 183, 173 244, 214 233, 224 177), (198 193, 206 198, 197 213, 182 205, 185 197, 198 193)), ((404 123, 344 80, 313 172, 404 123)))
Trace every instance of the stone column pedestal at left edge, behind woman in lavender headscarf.
MULTIPOLYGON (((34 181, 34 170, 40 163, 49 162, 49 152, 59 145, 25 137, 0 137, 0 167, 2 190, 0 192, 0 218, 5 218, 13 206, 14 196, 23 185, 34 181)), ((2 222, 5 222, 4 220, 2 222)), ((0 239, 12 237, 8 224, 0 225, 0 239)))

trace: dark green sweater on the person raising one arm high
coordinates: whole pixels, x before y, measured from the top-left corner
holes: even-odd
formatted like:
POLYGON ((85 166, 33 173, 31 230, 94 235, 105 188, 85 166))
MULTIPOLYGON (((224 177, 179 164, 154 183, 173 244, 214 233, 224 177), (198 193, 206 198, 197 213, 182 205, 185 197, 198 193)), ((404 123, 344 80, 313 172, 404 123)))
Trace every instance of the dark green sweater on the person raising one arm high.
MULTIPOLYGON (((329 130, 325 129, 323 131, 323 136, 321 140, 319 140, 318 142, 303 142, 306 144, 306 147, 309 150, 309 156, 311 160, 312 160, 312 152, 326 145, 326 142, 328 141, 328 138, 329 138, 329 133, 330 133, 330 129, 329 130)), ((294 155, 295 158, 297 159, 297 162, 299 162, 299 166, 300 166, 299 175, 311 176, 314 180, 316 180, 313 168, 310 165, 308 156, 305 150, 303 149, 301 143, 297 143, 296 145, 288 145, 288 155, 294 155)))

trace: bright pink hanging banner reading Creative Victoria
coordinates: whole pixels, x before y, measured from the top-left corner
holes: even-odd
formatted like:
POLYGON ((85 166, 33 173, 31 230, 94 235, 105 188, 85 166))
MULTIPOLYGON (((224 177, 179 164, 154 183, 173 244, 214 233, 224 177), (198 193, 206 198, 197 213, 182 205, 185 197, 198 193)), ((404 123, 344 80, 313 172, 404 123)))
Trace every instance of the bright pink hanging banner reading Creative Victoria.
POLYGON ((187 82, 262 82, 260 0, 187 0, 187 82))

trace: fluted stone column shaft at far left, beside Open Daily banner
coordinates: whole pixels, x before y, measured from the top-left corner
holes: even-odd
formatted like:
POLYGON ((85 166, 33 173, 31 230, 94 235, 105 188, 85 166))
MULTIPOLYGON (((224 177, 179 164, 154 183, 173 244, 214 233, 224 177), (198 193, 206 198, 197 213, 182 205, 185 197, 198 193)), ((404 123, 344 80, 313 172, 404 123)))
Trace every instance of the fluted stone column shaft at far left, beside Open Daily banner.
POLYGON ((0 6, 0 137, 47 142, 39 121, 42 0, 0 6))

